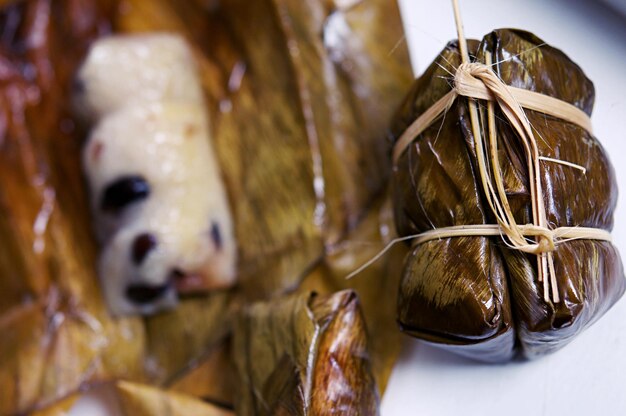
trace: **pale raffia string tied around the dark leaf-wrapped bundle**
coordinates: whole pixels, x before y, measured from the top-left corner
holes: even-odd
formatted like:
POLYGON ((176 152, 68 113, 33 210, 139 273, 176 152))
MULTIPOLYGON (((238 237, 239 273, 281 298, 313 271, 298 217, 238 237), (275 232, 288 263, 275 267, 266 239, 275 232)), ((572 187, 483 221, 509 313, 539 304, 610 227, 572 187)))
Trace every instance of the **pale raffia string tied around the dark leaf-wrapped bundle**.
POLYGON ((589 133, 592 133, 591 120, 586 113, 569 103, 506 85, 491 69, 491 55, 489 53, 485 54, 486 64, 471 63, 467 51, 467 41, 463 34, 458 1, 452 1, 462 59, 462 63, 454 76, 454 88, 418 117, 402 134, 393 151, 394 165, 397 164, 398 159, 413 140, 440 115, 448 111, 458 97, 466 97, 469 104, 470 122, 482 187, 487 203, 498 224, 438 228, 411 236, 414 240, 413 244, 423 244, 434 239, 448 237, 495 235, 506 237, 504 241, 510 248, 537 256, 538 280, 543 283, 544 299, 548 302, 551 298, 553 302, 558 303, 560 298, 552 253, 555 244, 573 239, 610 241, 611 235, 606 230, 596 228, 558 227, 550 229, 548 227, 541 184, 540 160, 561 163, 583 172, 584 168, 570 162, 540 156, 537 140, 524 108, 574 123, 589 133), (481 133, 476 100, 487 100, 487 137, 481 133), (517 133, 517 137, 524 148, 530 188, 532 224, 517 224, 507 199, 498 159, 495 104, 499 106, 500 111, 517 133))

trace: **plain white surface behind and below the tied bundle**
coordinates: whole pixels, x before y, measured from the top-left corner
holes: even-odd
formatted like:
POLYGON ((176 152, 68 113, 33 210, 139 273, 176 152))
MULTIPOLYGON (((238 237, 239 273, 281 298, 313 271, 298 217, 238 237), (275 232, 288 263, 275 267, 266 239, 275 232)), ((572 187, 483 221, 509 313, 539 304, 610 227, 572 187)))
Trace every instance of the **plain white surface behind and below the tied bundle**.
MULTIPOLYGON (((562 49, 596 86, 594 131, 622 190, 614 241, 626 254, 626 17, 600 2, 461 0, 466 37, 515 27, 562 49)), ((626 0, 615 0, 624 3, 626 0)), ((416 74, 456 38, 451 1, 400 0, 416 74)), ((625 8, 626 9, 626 8, 625 8)), ((626 299, 563 350, 485 365, 407 339, 383 416, 626 415, 626 299)))

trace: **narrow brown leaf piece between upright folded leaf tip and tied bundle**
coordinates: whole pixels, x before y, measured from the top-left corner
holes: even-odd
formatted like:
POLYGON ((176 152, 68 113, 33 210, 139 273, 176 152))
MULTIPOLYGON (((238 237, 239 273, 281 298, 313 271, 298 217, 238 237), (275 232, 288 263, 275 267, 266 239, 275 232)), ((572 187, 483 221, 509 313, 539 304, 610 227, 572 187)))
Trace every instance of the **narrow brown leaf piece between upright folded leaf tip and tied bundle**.
POLYGON ((344 241, 329 249, 323 262, 299 288, 300 292, 314 291, 320 295, 345 289, 357 293, 367 323, 372 370, 381 396, 402 348, 396 300, 407 249, 396 244, 350 280, 346 277, 374 258, 395 237, 391 199, 385 197, 377 201, 344 241))

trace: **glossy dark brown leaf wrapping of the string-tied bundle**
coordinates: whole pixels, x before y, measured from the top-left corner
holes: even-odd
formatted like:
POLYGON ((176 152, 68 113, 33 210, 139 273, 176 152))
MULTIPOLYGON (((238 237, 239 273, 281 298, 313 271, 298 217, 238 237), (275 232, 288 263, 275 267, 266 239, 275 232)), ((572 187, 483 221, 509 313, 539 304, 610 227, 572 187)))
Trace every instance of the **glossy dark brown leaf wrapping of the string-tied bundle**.
MULTIPOLYGON (((469 43, 476 61, 508 85, 573 104, 591 115, 594 88, 560 50, 534 35, 496 30, 469 43)), ((413 85, 395 117, 398 138, 406 127, 450 91, 448 71, 460 64, 450 43, 413 85)), ((484 103, 482 124, 486 125, 484 103)), ((584 129, 526 110, 539 154, 587 171, 541 163, 548 223, 611 230, 617 201, 613 168, 595 137, 584 129)), ((507 198, 518 224, 531 221, 525 156, 497 109, 499 160, 507 198)), ((417 137, 393 177, 394 210, 401 236, 433 228, 495 224, 478 177, 467 99, 457 99, 417 137)), ((485 361, 512 357, 516 345, 534 358, 555 351, 606 312, 624 292, 620 256, 610 242, 576 240, 557 245, 554 263, 561 301, 546 302, 537 281, 536 256, 509 249, 500 237, 443 238, 412 247, 400 286, 398 320, 411 335, 485 361)))

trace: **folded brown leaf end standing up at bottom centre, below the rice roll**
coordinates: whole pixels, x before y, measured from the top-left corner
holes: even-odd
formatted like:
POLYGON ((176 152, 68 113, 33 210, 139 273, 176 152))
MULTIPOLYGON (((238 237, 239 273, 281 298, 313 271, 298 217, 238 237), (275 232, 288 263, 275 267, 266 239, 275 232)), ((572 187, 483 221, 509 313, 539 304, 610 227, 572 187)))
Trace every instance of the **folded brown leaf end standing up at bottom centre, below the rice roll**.
POLYGON ((243 311, 234 335, 241 415, 378 414, 365 321, 350 290, 243 311))

